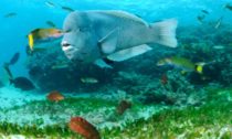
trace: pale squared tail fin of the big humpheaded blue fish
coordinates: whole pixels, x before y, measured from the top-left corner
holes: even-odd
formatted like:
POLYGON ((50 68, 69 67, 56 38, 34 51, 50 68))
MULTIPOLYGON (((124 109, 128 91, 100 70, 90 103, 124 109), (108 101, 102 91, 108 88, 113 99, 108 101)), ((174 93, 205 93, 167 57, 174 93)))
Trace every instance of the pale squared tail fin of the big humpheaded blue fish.
POLYGON ((161 45, 177 47, 176 29, 177 20, 169 19, 151 24, 152 42, 161 45))

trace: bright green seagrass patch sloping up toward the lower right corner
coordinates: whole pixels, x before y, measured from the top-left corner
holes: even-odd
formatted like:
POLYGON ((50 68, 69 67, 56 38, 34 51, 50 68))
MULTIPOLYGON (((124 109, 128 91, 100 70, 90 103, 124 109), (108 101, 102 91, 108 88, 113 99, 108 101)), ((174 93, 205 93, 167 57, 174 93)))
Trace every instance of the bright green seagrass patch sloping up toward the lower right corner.
MULTIPOLYGON (((168 109, 148 120, 137 120, 117 136, 119 138, 219 138, 229 139, 232 135, 232 89, 209 90, 208 103, 201 107, 168 109), (214 99, 212 99, 214 98, 214 99), (228 129, 222 132, 222 129, 228 129), (221 135, 220 135, 221 133, 221 135)), ((117 130, 117 129, 116 129, 117 130)), ((108 137, 115 136, 109 131, 108 137)))

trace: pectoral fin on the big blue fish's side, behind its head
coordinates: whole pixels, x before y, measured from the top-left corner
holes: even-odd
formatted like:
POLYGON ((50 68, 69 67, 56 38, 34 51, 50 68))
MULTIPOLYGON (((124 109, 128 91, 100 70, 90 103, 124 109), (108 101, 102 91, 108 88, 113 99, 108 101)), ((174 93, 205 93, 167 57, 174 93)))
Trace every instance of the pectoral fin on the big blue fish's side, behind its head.
POLYGON ((98 41, 103 54, 110 54, 116 50, 118 29, 110 31, 106 36, 98 41))

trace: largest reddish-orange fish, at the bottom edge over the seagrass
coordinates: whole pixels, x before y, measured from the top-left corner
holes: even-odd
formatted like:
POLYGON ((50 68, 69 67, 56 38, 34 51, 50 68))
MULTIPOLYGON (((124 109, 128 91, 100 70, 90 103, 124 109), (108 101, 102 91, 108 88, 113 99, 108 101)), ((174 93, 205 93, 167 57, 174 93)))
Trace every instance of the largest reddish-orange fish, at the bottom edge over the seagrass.
POLYGON ((73 117, 68 127, 74 132, 82 135, 85 139, 101 139, 97 129, 82 117, 73 117))

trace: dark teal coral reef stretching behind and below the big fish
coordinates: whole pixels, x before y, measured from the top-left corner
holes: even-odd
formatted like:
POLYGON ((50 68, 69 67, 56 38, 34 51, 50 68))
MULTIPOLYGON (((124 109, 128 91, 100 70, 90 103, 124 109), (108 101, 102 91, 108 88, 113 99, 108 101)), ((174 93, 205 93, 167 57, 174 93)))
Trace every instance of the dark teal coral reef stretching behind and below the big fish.
MULTIPOLYGON (((215 22, 205 22, 203 25, 180 26, 177 35, 179 42, 177 49, 156 45, 154 51, 149 53, 125 62, 113 63, 114 70, 102 70, 94 64, 72 63, 64 56, 57 42, 53 42, 48 49, 51 51, 30 55, 27 67, 33 82, 45 92, 59 89, 63 92, 104 90, 108 93, 112 92, 109 89, 114 89, 114 92, 122 89, 128 94, 150 94, 151 92, 154 94, 154 90, 160 89, 162 86, 159 82, 161 75, 167 73, 169 76, 177 75, 176 68, 159 67, 156 63, 165 57, 180 56, 193 63, 207 64, 203 75, 194 72, 188 73, 183 79, 191 84, 184 84, 183 87, 190 85, 189 87, 198 88, 199 85, 207 86, 210 83, 230 86, 232 82, 231 25, 222 23, 219 29, 214 29, 214 24, 215 22), (223 34, 226 34, 226 38, 222 38, 223 34), (221 47, 217 47, 219 45, 221 47), (54 66, 57 68, 53 68, 54 66), (83 84, 82 77, 93 77, 98 83, 94 85, 83 84)), ((179 82, 178 77, 176 78, 171 82, 172 87, 176 86, 175 84, 181 85, 181 82, 175 83, 175 79, 179 82)), ((181 92, 182 88, 173 87, 171 89, 181 92)), ((169 90, 171 92, 171 89, 169 90)))

